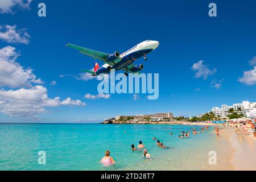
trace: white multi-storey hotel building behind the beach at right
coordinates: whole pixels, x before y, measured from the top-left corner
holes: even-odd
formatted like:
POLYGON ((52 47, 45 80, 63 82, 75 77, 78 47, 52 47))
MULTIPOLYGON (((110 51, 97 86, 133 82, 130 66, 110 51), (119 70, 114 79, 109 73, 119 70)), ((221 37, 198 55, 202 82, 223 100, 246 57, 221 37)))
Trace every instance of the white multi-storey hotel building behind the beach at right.
MULTIPOLYGON (((243 115, 247 118, 256 118, 256 102, 242 101, 239 104, 233 104, 232 106, 221 105, 221 107, 213 107, 212 112, 217 116, 219 115, 221 118, 228 118, 229 109, 234 109, 235 111, 238 108, 242 109, 243 115)), ((198 115, 201 117, 201 114, 198 115)))

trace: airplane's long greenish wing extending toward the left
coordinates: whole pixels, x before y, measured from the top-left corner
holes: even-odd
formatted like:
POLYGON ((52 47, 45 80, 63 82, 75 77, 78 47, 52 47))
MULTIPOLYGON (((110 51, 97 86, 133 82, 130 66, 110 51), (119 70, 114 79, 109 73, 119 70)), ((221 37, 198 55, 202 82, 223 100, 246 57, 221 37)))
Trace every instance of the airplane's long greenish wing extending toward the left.
POLYGON ((104 63, 108 63, 107 61, 109 57, 108 53, 93 51, 92 49, 76 46, 73 44, 67 44, 66 46, 79 50, 79 52, 82 53, 83 55, 87 55, 87 56, 93 57, 94 59, 104 61, 104 63))

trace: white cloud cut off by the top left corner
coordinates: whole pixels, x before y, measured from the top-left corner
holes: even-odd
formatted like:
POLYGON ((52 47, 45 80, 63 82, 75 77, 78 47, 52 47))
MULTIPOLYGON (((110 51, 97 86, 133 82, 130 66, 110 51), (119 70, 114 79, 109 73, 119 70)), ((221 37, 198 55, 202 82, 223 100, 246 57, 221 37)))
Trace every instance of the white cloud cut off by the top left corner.
POLYGON ((29 9, 32 0, 1 0, 0 1, 0 13, 14 14, 13 8, 19 7, 21 9, 29 9))

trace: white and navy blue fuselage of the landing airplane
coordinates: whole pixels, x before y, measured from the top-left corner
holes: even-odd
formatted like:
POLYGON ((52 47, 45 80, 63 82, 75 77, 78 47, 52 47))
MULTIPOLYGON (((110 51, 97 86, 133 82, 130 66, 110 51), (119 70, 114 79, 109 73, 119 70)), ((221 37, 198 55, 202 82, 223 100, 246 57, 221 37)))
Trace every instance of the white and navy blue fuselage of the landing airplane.
POLYGON ((115 63, 113 66, 109 64, 102 65, 101 68, 98 69, 96 72, 96 75, 100 75, 101 73, 110 73, 110 70, 107 69, 111 67, 112 69, 115 69, 116 71, 120 69, 125 69, 127 66, 132 64, 135 60, 141 58, 142 56, 146 56, 148 53, 154 51, 159 46, 159 42, 154 40, 146 40, 142 43, 139 43, 138 45, 134 46, 133 48, 130 48, 129 50, 123 52, 119 57, 121 58, 121 61, 118 63, 115 63))

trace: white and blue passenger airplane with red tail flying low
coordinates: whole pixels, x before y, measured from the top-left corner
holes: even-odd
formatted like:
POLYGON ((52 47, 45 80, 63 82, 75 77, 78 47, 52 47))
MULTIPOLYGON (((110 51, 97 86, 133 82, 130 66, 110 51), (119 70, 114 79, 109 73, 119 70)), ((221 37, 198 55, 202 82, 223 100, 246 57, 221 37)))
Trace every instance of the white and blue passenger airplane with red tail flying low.
POLYGON ((110 73, 111 69, 115 69, 116 71, 122 69, 125 71, 124 74, 128 76, 127 72, 140 74, 140 71, 143 69, 143 65, 134 65, 134 61, 141 58, 142 56, 144 57, 144 60, 147 60, 146 55, 154 51, 159 46, 159 42, 155 40, 146 40, 123 52, 121 55, 118 51, 115 51, 112 54, 108 54, 93 51, 92 49, 76 46, 73 44, 66 44, 66 46, 77 49, 80 53, 93 57, 94 60, 98 59, 105 63, 102 65, 102 67, 99 67, 98 63, 95 63, 93 71, 82 69, 81 71, 83 72, 90 73, 92 76, 98 76, 102 73, 110 73))

